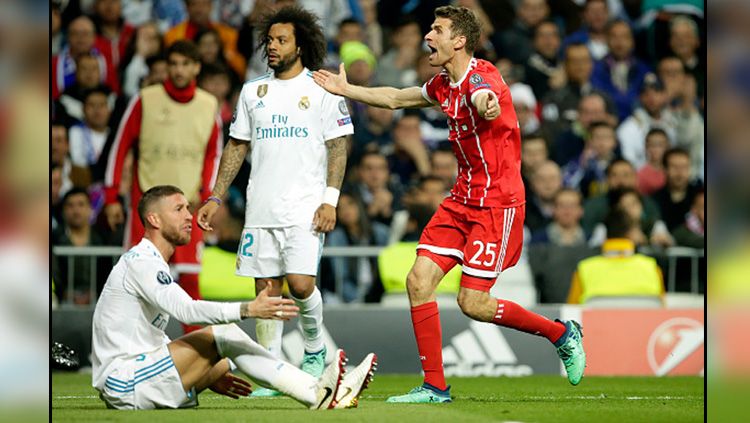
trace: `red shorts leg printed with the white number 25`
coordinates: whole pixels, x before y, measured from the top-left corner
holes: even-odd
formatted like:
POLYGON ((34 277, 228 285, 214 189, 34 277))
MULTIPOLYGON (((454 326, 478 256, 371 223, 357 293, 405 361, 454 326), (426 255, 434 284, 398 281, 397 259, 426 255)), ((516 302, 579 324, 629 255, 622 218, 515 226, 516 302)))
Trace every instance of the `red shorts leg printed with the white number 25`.
POLYGON ((524 207, 474 209, 470 217, 461 286, 489 291, 500 272, 520 257, 524 207))

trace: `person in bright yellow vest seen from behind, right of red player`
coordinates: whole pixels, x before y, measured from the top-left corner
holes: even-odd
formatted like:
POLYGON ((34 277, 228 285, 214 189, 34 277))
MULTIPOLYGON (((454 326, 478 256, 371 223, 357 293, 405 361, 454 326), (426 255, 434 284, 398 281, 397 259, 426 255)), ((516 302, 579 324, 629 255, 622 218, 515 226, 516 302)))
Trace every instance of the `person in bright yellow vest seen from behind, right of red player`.
POLYGON ((569 304, 595 297, 655 297, 663 300, 664 279, 656 260, 635 252, 638 225, 622 210, 605 220, 607 241, 602 254, 581 260, 568 294, 569 304))

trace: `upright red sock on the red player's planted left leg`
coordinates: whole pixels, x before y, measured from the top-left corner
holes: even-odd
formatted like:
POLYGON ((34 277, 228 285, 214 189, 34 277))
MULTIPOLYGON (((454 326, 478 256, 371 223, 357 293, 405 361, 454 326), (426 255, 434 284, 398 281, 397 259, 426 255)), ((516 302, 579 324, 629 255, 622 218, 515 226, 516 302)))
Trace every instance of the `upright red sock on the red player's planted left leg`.
POLYGON ((417 339, 419 360, 424 370, 424 381, 444 390, 447 386, 443 373, 443 332, 437 302, 412 307, 411 321, 417 339))

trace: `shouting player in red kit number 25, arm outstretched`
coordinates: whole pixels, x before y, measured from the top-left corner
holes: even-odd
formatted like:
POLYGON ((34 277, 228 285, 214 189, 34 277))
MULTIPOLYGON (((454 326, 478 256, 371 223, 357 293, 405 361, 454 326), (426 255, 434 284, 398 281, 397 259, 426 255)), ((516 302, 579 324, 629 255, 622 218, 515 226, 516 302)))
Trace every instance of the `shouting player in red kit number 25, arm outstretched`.
POLYGON ((498 70, 473 57, 480 27, 471 10, 443 6, 424 37, 429 61, 442 71, 421 88, 365 88, 321 70, 313 79, 333 94, 390 109, 439 105, 448 116, 449 140, 459 175, 450 196, 422 233, 406 279, 414 334, 424 370, 422 386, 388 402, 449 402, 435 288, 453 266, 463 275, 458 304, 467 316, 547 338, 557 347, 568 380, 583 377, 586 356, 578 323, 551 321, 489 295, 500 272, 516 264, 525 216, 521 181, 521 131, 510 90, 498 70))

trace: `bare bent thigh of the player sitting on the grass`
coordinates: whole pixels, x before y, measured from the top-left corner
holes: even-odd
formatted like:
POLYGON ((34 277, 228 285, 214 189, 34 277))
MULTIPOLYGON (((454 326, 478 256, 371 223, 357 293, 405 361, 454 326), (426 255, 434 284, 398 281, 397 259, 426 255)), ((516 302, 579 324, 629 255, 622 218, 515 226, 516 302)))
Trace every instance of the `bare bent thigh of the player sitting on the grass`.
POLYGON ((210 327, 175 339, 168 348, 186 391, 204 380, 220 359, 210 327))

